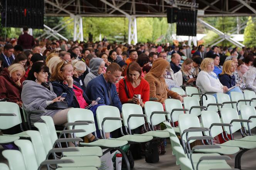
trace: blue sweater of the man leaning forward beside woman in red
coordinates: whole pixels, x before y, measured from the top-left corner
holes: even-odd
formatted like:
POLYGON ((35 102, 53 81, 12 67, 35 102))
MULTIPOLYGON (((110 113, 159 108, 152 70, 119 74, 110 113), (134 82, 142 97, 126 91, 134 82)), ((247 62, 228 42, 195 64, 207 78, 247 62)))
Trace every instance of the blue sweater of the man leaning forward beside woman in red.
POLYGON ((85 93, 90 100, 96 100, 100 97, 101 100, 98 101, 98 104, 115 106, 119 109, 120 113, 122 112, 122 104, 117 95, 116 86, 113 83, 107 83, 103 74, 88 83, 85 93), (111 100, 109 99, 109 91, 113 103, 112 105, 111 100))

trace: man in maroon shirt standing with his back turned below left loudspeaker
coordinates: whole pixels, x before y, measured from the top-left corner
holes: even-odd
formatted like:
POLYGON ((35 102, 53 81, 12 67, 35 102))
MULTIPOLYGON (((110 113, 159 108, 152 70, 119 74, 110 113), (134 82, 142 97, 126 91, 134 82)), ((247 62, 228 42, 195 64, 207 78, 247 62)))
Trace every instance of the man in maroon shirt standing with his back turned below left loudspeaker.
POLYGON ((35 40, 32 35, 29 35, 29 28, 23 28, 23 34, 20 35, 17 44, 21 45, 24 51, 31 50, 31 48, 35 45, 35 40))

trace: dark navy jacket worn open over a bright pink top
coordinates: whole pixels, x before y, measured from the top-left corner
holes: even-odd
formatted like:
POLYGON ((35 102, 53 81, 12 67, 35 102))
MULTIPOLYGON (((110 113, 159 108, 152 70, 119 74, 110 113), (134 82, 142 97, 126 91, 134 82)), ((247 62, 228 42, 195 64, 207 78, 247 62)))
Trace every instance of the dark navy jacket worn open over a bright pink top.
MULTIPOLYGON (((53 91, 54 93, 56 93, 57 96, 60 96, 61 93, 67 93, 65 100, 67 101, 68 107, 80 108, 80 105, 76 100, 75 92, 73 91, 73 88, 67 87, 67 85, 64 85, 62 82, 58 82, 58 81, 53 81, 51 83, 52 83, 53 91)), ((73 83, 77 87, 83 89, 79 82, 73 81, 73 83)), ((86 103, 88 104, 91 103, 89 98, 86 96, 84 90, 83 90, 83 97, 86 103)))

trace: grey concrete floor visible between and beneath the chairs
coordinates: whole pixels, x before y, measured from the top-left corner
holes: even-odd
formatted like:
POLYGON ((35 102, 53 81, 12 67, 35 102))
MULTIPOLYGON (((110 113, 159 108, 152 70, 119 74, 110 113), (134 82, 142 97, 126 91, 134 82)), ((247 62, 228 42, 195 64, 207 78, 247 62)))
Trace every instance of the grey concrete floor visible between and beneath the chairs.
MULTIPOLYGON (((235 138, 240 138, 240 133, 236 132, 235 138)), ((0 146, 0 162, 7 163, 2 156, 3 148, 0 146)), ((135 167, 133 170, 180 170, 180 167, 175 164, 176 158, 172 155, 172 149, 170 146, 170 141, 167 140, 167 147, 165 149, 165 155, 160 155, 159 162, 157 163, 147 163, 145 162, 145 157, 142 157, 140 160, 135 160, 135 167)), ((232 158, 232 160, 228 160, 227 163, 234 168, 234 155, 228 155, 232 158)), ((242 157, 242 170, 256 170, 256 149, 249 150, 248 152, 244 153, 242 157)), ((214 167, 213 167, 214 168, 214 167)))

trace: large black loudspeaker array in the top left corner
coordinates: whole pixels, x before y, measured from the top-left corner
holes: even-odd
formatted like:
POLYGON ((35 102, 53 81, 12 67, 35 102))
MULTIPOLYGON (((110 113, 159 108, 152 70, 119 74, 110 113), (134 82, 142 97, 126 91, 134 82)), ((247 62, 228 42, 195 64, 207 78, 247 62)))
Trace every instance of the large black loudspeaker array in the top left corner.
POLYGON ((1 0, 2 25, 44 28, 44 0, 1 0))

